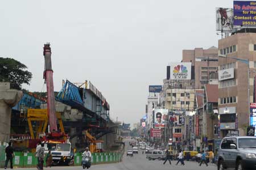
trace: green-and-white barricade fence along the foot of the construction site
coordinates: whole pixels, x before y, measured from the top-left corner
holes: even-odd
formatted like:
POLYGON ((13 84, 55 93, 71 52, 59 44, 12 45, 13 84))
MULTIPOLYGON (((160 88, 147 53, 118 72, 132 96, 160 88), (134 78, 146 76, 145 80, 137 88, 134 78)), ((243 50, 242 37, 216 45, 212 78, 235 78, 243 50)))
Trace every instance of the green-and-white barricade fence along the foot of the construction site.
MULTIPOLYGON (((0 146, 0 168, 5 167, 5 147, 0 146)), ((73 156, 73 165, 80 166, 82 163, 82 153, 77 152, 73 156)), ((102 153, 93 153, 91 163, 92 165, 96 164, 107 164, 107 163, 118 163, 122 161, 122 154, 119 152, 102 152, 102 153)), ((31 152, 14 152, 13 166, 16 168, 34 168, 38 164, 38 159, 34 153, 31 152)), ((44 165, 46 160, 44 160, 44 165)), ((70 165, 69 165, 70 166, 70 165)), ((10 162, 8 164, 10 167, 10 162)))

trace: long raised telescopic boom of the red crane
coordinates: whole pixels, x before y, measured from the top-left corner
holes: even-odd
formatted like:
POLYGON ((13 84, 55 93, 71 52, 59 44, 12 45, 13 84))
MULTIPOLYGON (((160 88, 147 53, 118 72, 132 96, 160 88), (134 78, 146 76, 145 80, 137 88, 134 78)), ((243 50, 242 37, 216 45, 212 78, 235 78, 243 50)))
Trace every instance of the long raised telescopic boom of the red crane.
POLYGON ((51 47, 50 44, 44 44, 44 79, 47 86, 47 114, 49 118, 50 131, 57 131, 57 120, 55 114, 55 96, 53 89, 53 70, 51 61, 51 47))

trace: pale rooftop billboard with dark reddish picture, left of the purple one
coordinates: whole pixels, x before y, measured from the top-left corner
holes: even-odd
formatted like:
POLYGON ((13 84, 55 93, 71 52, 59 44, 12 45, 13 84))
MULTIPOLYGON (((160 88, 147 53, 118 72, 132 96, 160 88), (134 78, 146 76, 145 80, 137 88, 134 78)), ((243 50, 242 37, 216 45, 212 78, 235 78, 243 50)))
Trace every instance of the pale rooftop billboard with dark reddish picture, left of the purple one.
POLYGON ((233 29, 233 9, 216 8, 216 31, 232 32, 233 29))

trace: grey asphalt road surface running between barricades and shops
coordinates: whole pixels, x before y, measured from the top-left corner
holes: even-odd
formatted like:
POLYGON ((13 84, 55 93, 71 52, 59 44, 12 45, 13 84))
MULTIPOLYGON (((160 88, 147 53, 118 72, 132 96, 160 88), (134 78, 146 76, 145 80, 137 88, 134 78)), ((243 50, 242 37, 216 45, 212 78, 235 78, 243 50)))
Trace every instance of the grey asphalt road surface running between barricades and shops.
MULTIPOLYGON (((127 145, 126 145, 127 146, 127 145)), ((27 169, 27 168, 26 168, 27 169)), ((36 168, 31 168, 35 169, 36 168)), ((51 169, 51 170, 73 170, 73 169, 82 169, 82 167, 52 167, 52 168, 44 168, 44 169, 51 169)), ((177 170, 200 170, 200 169, 209 169, 209 170, 216 170, 216 165, 209 165, 206 167, 205 164, 202 164, 201 167, 199 167, 199 164, 196 162, 186 162, 185 165, 181 166, 176 165, 176 160, 172 161, 172 164, 170 165, 168 162, 163 165, 163 161, 159 160, 147 160, 146 155, 142 154, 142 151, 139 151, 139 154, 135 154, 133 158, 130 156, 127 157, 126 154, 123 156, 123 162, 116 163, 116 164, 101 164, 101 165, 93 165, 91 170, 165 170, 165 169, 177 169, 177 170)), ((18 169, 17 169, 18 170, 18 169)), ((24 170, 24 169, 23 169, 24 170)))

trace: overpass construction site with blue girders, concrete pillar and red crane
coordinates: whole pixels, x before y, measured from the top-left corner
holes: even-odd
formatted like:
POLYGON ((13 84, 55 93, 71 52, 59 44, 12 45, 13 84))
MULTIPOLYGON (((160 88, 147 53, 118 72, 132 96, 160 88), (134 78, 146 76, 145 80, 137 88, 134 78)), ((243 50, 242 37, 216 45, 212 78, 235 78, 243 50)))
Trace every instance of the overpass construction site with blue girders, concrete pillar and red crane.
MULTIPOLYGON (((14 151, 33 153, 44 143, 52 151, 53 164, 74 164, 74 155, 86 147, 92 153, 122 152, 118 122, 110 119, 110 105, 92 82, 63 80, 60 90, 53 89, 50 44, 44 44, 46 96, 10 89, 0 82, 0 142, 13 143, 14 151)), ((38 56, 40 57, 40 56, 38 56)))

